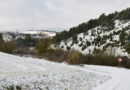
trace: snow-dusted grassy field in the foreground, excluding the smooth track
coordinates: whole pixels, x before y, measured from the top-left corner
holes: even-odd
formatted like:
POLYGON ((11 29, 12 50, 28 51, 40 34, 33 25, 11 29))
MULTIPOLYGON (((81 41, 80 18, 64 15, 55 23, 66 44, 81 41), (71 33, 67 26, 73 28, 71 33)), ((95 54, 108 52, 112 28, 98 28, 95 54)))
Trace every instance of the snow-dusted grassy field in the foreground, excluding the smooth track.
POLYGON ((0 53, 0 90, 92 90, 110 78, 79 66, 0 53))

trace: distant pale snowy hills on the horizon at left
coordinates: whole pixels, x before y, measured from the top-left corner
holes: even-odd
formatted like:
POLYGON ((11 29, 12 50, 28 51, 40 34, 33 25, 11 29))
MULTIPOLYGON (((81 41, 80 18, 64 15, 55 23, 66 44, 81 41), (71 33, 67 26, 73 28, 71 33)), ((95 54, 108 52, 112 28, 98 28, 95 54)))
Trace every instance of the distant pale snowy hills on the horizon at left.
POLYGON ((18 38, 25 39, 28 35, 32 38, 48 38, 54 37, 56 35, 55 31, 48 31, 48 30, 28 30, 24 32, 0 32, 2 34, 3 40, 5 42, 10 42, 12 40, 16 40, 18 38))

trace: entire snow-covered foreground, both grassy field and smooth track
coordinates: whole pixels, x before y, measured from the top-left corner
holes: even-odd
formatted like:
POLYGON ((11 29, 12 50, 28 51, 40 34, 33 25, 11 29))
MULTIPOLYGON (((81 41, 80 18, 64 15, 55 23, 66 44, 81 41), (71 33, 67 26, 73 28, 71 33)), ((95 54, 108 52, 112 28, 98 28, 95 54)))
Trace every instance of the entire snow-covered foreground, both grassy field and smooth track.
POLYGON ((130 90, 130 71, 0 53, 0 90, 130 90))

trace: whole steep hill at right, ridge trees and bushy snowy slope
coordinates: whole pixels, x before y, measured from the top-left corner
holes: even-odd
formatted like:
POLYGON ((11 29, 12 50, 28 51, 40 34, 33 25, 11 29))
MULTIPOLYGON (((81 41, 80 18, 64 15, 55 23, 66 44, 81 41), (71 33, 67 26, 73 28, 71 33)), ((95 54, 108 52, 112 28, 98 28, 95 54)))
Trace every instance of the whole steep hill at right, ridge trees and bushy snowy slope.
POLYGON ((64 50, 78 50, 83 54, 93 54, 100 49, 115 56, 129 57, 130 8, 112 14, 102 14, 69 31, 57 33, 54 37, 57 47, 64 50))

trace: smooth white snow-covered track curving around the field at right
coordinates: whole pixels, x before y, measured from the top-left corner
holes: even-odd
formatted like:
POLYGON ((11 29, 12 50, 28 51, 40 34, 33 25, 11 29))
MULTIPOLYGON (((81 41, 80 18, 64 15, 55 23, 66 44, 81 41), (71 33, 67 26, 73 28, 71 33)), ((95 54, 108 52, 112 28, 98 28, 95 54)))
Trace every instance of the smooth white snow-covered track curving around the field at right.
POLYGON ((130 70, 105 66, 85 66, 94 71, 99 71, 111 76, 105 84, 99 85, 93 90, 130 90, 130 70))

